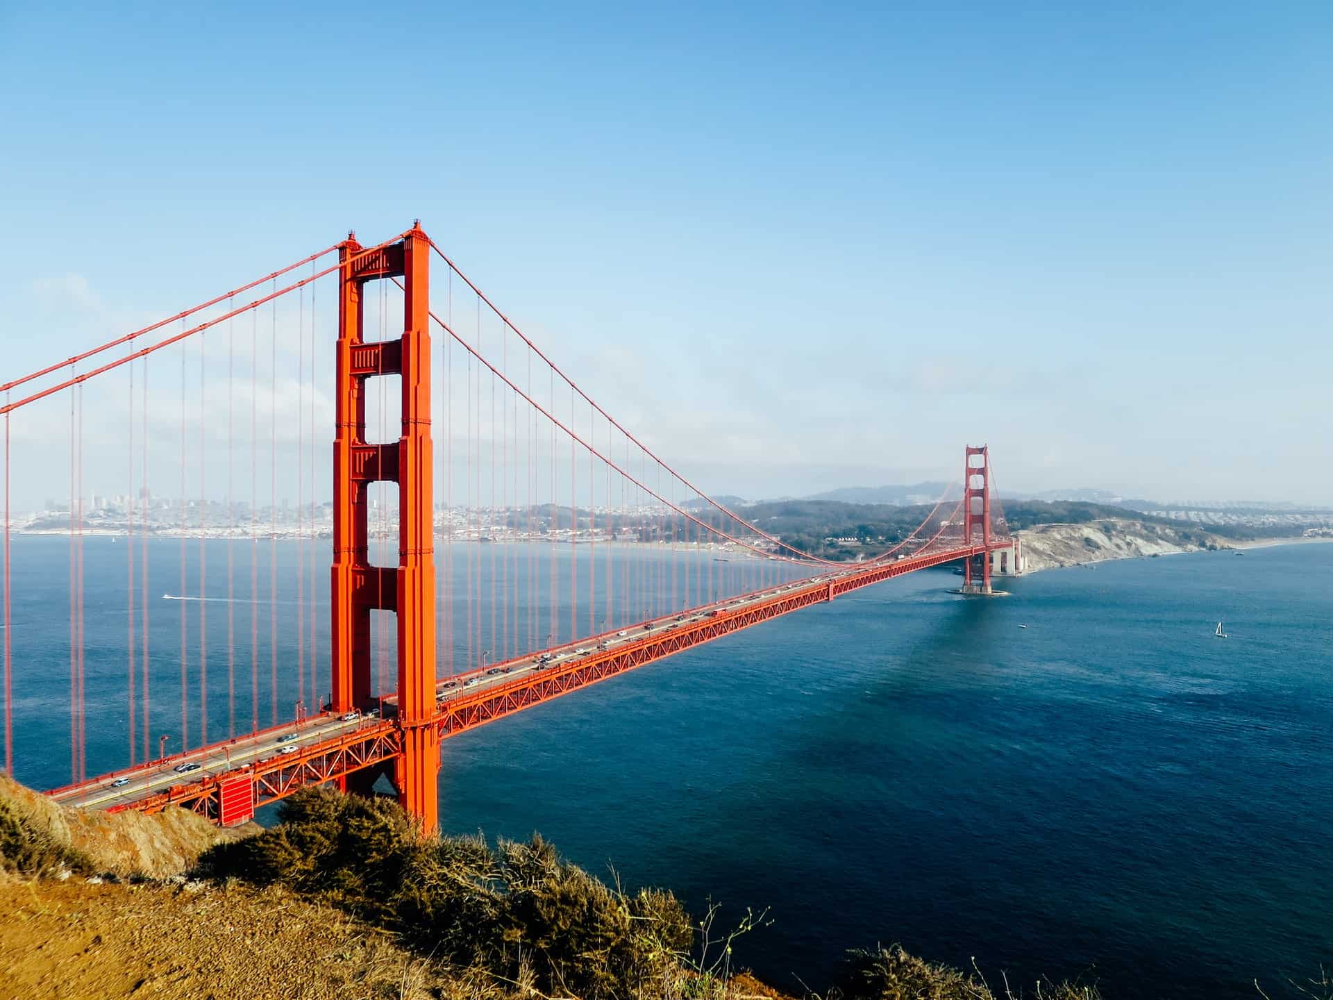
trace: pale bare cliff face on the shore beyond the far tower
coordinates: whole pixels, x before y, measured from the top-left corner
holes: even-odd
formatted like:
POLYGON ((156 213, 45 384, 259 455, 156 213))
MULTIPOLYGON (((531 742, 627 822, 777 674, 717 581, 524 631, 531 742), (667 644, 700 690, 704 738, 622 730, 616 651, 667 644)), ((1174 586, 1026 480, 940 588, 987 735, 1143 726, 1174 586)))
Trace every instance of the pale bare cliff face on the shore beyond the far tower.
POLYGON ((1062 565, 1101 563, 1108 559, 1232 548, 1226 539, 1197 528, 1174 528, 1134 520, 1038 524, 1016 533, 1022 539, 1024 569, 1029 573, 1062 565))

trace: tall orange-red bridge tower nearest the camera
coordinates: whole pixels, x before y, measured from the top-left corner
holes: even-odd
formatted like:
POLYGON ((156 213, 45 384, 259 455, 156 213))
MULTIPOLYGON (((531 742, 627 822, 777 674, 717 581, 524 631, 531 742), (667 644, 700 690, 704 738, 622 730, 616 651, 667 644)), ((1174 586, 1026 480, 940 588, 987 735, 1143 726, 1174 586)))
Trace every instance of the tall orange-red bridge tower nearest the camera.
MULTIPOLYGON (((439 823, 436 779, 440 737, 435 713, 435 532, 431 444, 431 241, 415 225, 399 243, 369 255, 348 236, 340 249, 336 433, 333 439, 332 647, 335 712, 372 707, 371 612, 397 616, 397 725, 403 756, 395 764, 399 801, 427 832, 439 823), (361 255, 361 256, 359 256, 361 255), (368 281, 403 279, 403 336, 367 343, 368 281), (365 440, 365 384, 397 375, 403 429, 396 441, 365 440), (371 483, 399 484, 397 565, 369 560, 371 483)), ((368 792, 375 771, 344 781, 368 792)))

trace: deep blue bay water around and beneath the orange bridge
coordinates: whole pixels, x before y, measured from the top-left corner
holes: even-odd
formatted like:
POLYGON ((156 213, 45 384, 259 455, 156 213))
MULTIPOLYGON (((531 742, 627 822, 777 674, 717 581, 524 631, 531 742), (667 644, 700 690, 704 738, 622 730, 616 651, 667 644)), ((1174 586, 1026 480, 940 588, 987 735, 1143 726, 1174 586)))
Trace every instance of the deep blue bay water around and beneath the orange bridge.
MULTIPOLYGON (((180 589, 179 543, 153 545, 156 751, 183 721, 197 743, 200 719, 180 719, 183 603, 161 599, 180 589)), ((269 637, 264 545, 261 725, 320 681, 309 648, 295 667, 292 623, 311 601, 291 596, 291 545, 272 555, 289 604, 269 637)), ((501 547, 484 548, 455 548, 455 591, 489 572, 479 560, 501 547)), ((224 596, 225 544, 204 551, 205 591, 224 596)), ((69 780, 67 555, 63 539, 15 539, 15 761, 39 787, 69 780)), ((608 556, 629 560, 623 581, 645 583, 685 557, 608 556)), ((239 728, 252 713, 249 551, 233 559, 240 604, 187 603, 187 692, 197 705, 203 633, 211 739, 231 724, 229 649, 239 728)), ((533 555, 532 587, 511 592, 513 607, 535 595, 555 629, 600 613, 563 603, 561 559, 533 555)), ((123 547, 87 544, 89 772, 128 756, 125 573, 123 547)), ((1012 596, 994 600, 952 585, 948 572, 893 580, 449 740, 441 825, 540 831, 627 885, 669 887, 696 912, 721 904, 720 924, 765 911, 736 957, 780 987, 822 992, 845 948, 890 941, 974 957, 996 983, 1081 976, 1108 997, 1253 997, 1254 979, 1276 997, 1333 967, 1333 545, 1052 571, 1006 580, 1012 596), (1218 619, 1230 639, 1212 636, 1218 619)), ((472 609, 483 632, 492 607, 472 609)), ((456 601, 455 621, 467 613, 456 601)), ((503 609, 497 621, 503 635, 503 609)), ((461 637, 449 649, 460 668, 481 652, 461 637)))

